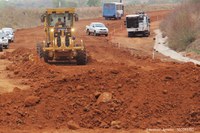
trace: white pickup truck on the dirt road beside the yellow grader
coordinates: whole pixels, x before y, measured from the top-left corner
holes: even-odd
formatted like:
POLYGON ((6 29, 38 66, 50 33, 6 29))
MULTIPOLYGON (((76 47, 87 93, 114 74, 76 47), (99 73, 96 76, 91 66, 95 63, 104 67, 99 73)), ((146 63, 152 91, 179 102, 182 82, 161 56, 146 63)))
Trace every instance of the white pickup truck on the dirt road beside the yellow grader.
POLYGON ((108 28, 103 24, 99 22, 93 22, 90 25, 86 26, 86 33, 87 35, 105 35, 108 36, 108 28))

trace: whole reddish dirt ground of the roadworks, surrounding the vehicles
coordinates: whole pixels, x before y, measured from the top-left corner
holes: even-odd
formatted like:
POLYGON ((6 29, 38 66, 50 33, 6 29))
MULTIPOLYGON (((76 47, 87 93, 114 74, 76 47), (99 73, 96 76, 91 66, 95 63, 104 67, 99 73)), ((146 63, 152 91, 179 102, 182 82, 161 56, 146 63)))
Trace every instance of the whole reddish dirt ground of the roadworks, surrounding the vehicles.
POLYGON ((169 12, 148 13, 148 38, 128 38, 124 18, 78 21, 85 66, 44 63, 35 50, 45 38, 43 27, 18 30, 0 54, 0 132, 200 131, 200 67, 152 56, 153 31, 169 12), (90 22, 103 22, 109 36, 87 36, 90 22))

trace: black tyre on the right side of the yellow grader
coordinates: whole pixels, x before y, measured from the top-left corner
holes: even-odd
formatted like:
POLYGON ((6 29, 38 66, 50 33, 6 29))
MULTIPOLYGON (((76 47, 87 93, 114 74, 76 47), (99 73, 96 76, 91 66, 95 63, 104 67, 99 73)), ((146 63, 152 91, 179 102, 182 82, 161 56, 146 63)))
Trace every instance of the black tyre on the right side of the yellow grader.
POLYGON ((87 55, 85 50, 77 51, 76 62, 77 65, 87 64, 87 55))

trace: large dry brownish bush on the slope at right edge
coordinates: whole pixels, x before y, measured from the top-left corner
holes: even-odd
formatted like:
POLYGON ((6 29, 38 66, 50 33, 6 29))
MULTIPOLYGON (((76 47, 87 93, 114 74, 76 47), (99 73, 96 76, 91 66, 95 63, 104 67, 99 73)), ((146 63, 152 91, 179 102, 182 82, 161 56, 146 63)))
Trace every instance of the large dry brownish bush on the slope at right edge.
POLYGON ((199 34, 200 1, 191 0, 175 9, 162 23, 161 29, 169 37, 169 47, 184 51, 199 34))

